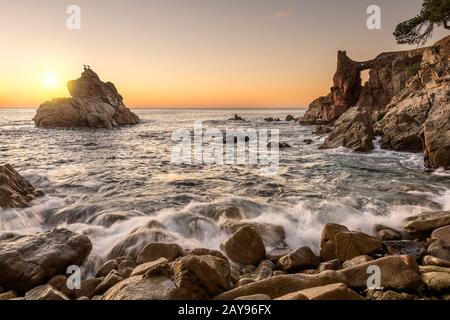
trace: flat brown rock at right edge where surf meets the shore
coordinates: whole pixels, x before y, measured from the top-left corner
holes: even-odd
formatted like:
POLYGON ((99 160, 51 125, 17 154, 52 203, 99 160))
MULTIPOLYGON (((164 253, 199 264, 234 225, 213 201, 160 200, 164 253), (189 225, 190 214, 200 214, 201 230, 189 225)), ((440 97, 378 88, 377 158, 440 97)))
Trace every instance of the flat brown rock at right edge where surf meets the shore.
POLYGON ((435 229, 448 225, 450 211, 435 211, 406 218, 403 229, 413 236, 426 237, 435 229))

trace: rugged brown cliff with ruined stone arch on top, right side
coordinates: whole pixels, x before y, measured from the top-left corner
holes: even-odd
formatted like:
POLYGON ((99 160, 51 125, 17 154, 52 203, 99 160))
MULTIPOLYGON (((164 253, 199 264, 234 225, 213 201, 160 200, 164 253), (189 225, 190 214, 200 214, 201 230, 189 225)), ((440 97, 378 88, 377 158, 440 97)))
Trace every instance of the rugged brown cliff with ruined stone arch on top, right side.
POLYGON ((450 168, 450 36, 433 46, 355 62, 338 53, 333 87, 311 103, 303 124, 333 124, 324 148, 423 151, 429 168, 450 168), (362 86, 361 71, 370 70, 362 86))

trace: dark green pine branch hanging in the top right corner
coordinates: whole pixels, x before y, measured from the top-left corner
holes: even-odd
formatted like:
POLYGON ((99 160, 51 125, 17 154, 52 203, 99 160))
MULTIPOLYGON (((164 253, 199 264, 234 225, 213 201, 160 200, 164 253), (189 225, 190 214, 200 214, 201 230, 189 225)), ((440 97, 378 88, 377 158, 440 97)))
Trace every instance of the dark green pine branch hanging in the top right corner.
POLYGON ((450 0, 424 0, 422 10, 400 23, 394 36, 399 44, 424 44, 436 27, 450 30, 450 0))

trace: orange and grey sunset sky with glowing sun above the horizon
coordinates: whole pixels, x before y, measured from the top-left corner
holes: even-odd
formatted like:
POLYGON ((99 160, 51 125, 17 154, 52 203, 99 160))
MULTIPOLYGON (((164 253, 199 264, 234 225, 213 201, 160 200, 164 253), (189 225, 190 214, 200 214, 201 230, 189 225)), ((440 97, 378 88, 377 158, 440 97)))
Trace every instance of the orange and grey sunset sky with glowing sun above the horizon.
POLYGON ((329 92, 338 50, 368 60, 408 49, 392 32, 421 2, 0 0, 0 107, 69 96, 83 64, 130 107, 305 107, 329 92), (80 30, 66 26, 73 4, 80 30), (381 30, 366 27, 369 5, 381 30))

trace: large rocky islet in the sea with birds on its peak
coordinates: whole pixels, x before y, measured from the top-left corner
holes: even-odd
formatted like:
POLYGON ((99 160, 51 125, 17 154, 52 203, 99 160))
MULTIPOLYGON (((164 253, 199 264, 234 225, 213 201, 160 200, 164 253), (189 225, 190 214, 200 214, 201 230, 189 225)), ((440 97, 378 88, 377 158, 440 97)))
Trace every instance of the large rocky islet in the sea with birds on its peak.
POLYGON ((58 98, 39 106, 34 122, 41 128, 113 128, 139 123, 111 82, 91 69, 67 83, 72 98, 58 98))

